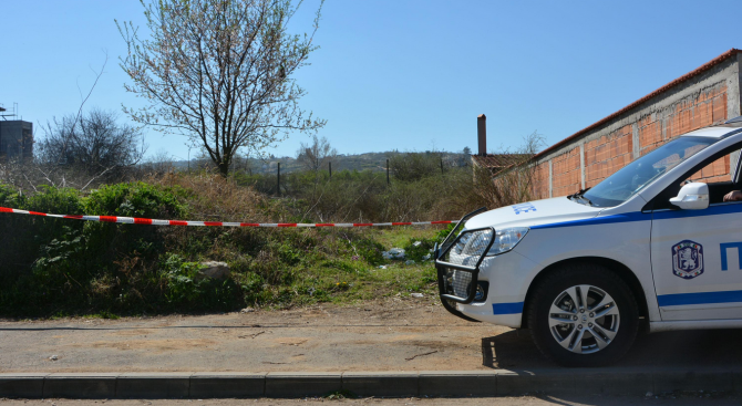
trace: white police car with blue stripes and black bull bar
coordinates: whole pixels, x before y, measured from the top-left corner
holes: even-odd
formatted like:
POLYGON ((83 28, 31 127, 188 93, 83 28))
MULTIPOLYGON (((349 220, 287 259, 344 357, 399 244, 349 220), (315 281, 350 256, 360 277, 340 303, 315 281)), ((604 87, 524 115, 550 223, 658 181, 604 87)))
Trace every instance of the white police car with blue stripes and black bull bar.
POLYGON ((465 216, 435 249, 443 305, 529 329, 568 366, 618 360, 642 325, 742 327, 742 201, 724 201, 741 188, 740 159, 730 180, 690 180, 741 148, 738 117, 679 136, 588 190, 465 216))

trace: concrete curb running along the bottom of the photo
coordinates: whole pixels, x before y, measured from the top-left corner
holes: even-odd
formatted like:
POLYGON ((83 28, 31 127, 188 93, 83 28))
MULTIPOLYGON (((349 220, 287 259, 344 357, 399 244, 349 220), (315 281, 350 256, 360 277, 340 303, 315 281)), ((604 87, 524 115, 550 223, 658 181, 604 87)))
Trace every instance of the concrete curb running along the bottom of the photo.
POLYGON ((0 397, 12 398, 290 398, 341 391, 377 397, 742 393, 742 369, 0 373, 0 397))

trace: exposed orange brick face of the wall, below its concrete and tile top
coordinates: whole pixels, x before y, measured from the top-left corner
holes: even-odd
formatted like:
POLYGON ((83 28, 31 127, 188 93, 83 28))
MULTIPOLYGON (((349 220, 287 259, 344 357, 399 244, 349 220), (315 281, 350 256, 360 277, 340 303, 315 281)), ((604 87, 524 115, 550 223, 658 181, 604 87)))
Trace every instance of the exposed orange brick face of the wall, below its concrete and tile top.
MULTIPOLYGON (((726 85, 722 82, 693 96, 686 97, 671 107, 655 110, 609 134, 597 138, 588 134, 583 139, 589 140, 577 139, 573 145, 565 146, 563 154, 550 158, 553 165, 552 196, 566 196, 578 191, 583 184, 583 176, 585 176, 585 186, 592 187, 628 165, 635 159, 636 154, 646 155, 681 134, 723 123, 728 118, 728 93, 726 85), (635 143, 638 144, 637 148, 635 148, 635 143), (580 144, 584 150, 581 157, 585 165, 584 173, 579 156, 580 144)), ((651 111, 651 106, 646 110, 651 111)), ((610 127, 610 123, 607 123, 605 127, 610 127)), ((542 180, 534 183, 534 195, 536 198, 548 197, 548 160, 542 162, 536 171, 537 178, 542 180), (545 180, 543 180, 544 176, 546 176, 545 180)), ((691 179, 723 181, 729 180, 729 174, 730 157, 726 156, 707 166, 691 179)))

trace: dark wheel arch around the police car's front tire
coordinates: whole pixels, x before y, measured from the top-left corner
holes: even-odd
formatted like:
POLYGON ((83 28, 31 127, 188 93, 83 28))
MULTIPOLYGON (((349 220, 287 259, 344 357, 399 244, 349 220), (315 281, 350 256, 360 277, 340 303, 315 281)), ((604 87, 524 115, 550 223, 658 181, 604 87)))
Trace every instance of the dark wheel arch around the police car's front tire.
POLYGON ((636 298, 637 304, 639 306, 639 316, 643 317, 645 322, 649 320, 647 295, 645 294, 645 291, 641 288, 641 282, 639 282, 639 278, 637 278, 637 275, 633 273, 633 271, 631 271, 629 267, 625 266, 624 263, 617 260, 605 257, 578 257, 552 263, 550 266, 544 268, 540 272, 538 272, 538 274, 536 274, 536 277, 530 281, 530 284, 528 285, 528 291, 526 292, 526 299, 524 301, 523 314, 521 319, 521 329, 528 329, 528 314, 527 314, 528 303, 532 300, 532 295, 535 290, 534 287, 538 285, 538 282, 543 278, 546 278, 546 275, 548 275, 549 273, 559 268, 573 263, 585 263, 585 262, 602 266, 606 269, 610 270, 611 272, 618 274, 618 277, 621 278, 626 282, 626 284, 629 285, 629 289, 631 289, 631 293, 636 298))

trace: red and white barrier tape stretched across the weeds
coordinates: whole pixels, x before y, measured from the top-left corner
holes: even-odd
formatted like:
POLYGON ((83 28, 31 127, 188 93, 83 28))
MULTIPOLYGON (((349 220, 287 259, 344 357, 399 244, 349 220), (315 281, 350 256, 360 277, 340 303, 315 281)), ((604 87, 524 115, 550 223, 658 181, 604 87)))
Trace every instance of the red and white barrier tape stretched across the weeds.
POLYGON ((28 211, 0 207, 0 212, 12 212, 16 215, 31 215, 41 217, 52 217, 61 219, 117 222, 122 225, 150 225, 150 226, 196 226, 196 227, 389 227, 389 226, 429 226, 429 225, 450 225, 456 221, 406 221, 406 222, 228 222, 228 221, 184 221, 184 220, 156 220, 142 219, 136 217, 118 216, 72 216, 72 215, 50 215, 48 212, 28 211))

